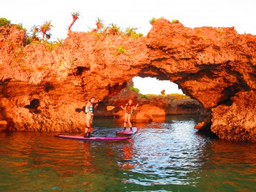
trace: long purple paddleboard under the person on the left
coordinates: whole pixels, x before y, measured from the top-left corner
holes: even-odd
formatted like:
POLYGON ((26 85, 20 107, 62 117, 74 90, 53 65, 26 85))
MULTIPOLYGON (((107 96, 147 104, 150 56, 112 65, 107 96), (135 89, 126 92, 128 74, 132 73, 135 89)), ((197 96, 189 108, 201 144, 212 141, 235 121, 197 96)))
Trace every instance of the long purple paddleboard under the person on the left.
POLYGON ((126 139, 131 139, 131 137, 83 137, 78 135, 65 135, 65 134, 56 134, 54 137, 59 137, 63 139, 75 139, 82 141, 95 141, 95 142, 108 142, 108 141, 122 141, 126 139))

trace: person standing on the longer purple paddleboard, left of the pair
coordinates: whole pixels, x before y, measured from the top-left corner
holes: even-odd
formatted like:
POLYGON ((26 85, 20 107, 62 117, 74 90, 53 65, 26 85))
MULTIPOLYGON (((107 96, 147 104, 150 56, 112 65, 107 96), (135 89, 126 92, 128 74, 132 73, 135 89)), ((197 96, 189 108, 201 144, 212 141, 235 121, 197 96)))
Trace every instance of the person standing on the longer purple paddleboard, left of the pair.
POLYGON ((98 103, 95 102, 95 97, 91 97, 90 100, 85 105, 85 135, 84 137, 91 137, 91 131, 92 131, 92 118, 94 115, 94 112, 98 106, 98 103), (95 104, 93 106, 93 104, 95 104))

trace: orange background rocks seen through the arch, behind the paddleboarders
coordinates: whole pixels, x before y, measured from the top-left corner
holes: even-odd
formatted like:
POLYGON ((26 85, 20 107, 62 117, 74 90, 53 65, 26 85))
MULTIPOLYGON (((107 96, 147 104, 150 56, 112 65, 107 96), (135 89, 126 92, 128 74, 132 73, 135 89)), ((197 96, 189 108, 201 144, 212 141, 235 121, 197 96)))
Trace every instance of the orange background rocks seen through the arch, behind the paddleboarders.
POLYGON ((172 95, 142 95, 131 89, 133 85, 132 80, 130 80, 117 95, 101 101, 97 107, 97 117, 124 119, 124 110, 120 106, 126 105, 131 98, 134 105, 139 104, 137 110, 134 110, 132 114, 133 122, 156 122, 168 114, 209 114, 200 102, 191 98, 179 99, 172 95), (106 111, 106 106, 114 106, 115 108, 106 111))

